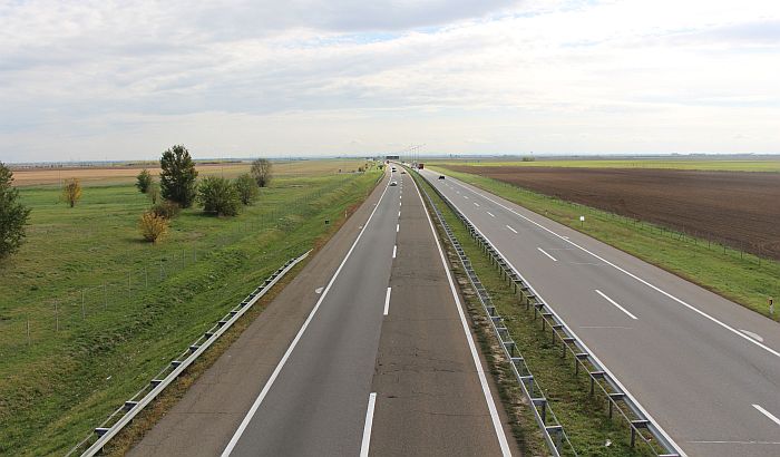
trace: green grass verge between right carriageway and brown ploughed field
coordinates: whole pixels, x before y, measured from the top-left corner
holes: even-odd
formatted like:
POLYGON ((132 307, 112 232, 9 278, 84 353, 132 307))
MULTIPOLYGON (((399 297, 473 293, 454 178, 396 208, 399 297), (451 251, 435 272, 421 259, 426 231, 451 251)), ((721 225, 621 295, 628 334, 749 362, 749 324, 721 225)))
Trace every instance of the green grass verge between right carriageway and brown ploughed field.
MULTIPOLYGON (((436 167, 432 167, 437 169, 436 167)), ((646 222, 617 216, 468 173, 452 177, 517 203, 769 317, 780 295, 780 262, 710 244, 646 222), (585 215, 581 224, 579 216, 585 215)), ((779 314, 772 317, 778 320, 779 314)))

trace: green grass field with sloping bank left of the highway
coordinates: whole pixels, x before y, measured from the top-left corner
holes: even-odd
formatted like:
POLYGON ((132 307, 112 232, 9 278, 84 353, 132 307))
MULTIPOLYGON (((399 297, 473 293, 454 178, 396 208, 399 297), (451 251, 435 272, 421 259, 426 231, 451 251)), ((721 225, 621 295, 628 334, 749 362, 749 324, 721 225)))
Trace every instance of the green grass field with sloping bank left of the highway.
POLYGON ((21 188, 28 240, 0 265, 0 455, 67 451, 272 271, 332 233, 380 176, 333 165, 280 173, 235 218, 184 211, 159 245, 139 241, 148 202, 130 183, 87 187, 75 208, 57 188, 21 188))

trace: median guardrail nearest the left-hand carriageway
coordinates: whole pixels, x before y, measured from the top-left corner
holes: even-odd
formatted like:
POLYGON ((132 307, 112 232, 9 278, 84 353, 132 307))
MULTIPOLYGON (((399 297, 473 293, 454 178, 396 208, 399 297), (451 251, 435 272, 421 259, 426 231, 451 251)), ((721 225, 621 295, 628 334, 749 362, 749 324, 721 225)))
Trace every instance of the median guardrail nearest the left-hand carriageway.
POLYGON ((490 295, 488 294, 487 290, 485 290, 482 283, 479 281, 479 278, 474 271, 471 262, 464 252, 460 242, 458 242, 458 239, 452 233, 452 229, 450 229, 447 221, 445 221, 438 206, 436 205, 436 203, 433 203, 430 195, 428 195, 428 192, 425 188, 422 188, 422 193, 426 195, 430 207, 436 213, 439 223, 447 233, 447 237, 449 239, 450 244, 457 252, 458 259, 460 260, 460 263, 462 264, 464 270, 466 271, 466 275, 468 276, 471 286, 477 292, 479 302, 482 304, 482 309, 485 310, 485 313, 490 320, 490 327, 493 328, 493 332, 498 339, 498 341, 501 342, 504 356, 509 361, 509 367, 515 373, 515 379, 517 379, 517 383, 520 386, 523 393, 525 395, 528 402, 534 406, 534 418, 536 419, 536 424, 539 426, 539 430, 542 431, 545 441, 547 443, 547 448, 549 449, 553 456, 559 457, 560 448, 565 441, 568 445, 568 448, 572 450, 572 453, 576 456, 577 453, 574 449, 572 443, 568 440, 566 431, 564 431, 564 428, 558 421, 558 418, 555 416, 555 412, 553 412, 553 408, 548 406, 547 397, 544 395, 542 387, 535 380, 534 375, 530 372, 530 369, 525 362, 525 358, 517 348, 517 344, 515 344, 515 341, 513 341, 508 329, 506 328, 506 325, 504 325, 504 318, 501 318, 501 315, 496 310, 496 307, 493 304, 490 295))

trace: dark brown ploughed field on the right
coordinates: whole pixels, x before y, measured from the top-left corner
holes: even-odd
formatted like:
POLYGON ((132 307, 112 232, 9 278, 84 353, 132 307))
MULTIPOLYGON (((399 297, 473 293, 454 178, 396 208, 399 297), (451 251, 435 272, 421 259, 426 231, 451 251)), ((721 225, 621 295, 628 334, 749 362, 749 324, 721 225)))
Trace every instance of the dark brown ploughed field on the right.
POLYGON ((446 167, 780 260, 780 173, 446 167))

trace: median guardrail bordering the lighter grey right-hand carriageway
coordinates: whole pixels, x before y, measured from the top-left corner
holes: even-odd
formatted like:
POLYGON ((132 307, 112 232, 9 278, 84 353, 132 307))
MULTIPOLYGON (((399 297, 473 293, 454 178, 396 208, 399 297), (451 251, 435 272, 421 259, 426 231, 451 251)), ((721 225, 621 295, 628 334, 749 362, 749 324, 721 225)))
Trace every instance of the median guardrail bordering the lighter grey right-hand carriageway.
MULTIPOLYGON (((620 383, 616 382, 610 372, 601 366, 598 360, 596 360, 596 358, 589 353, 587 348, 574 336, 563 319, 560 319, 558 314, 545 302, 545 300, 534 290, 528 281, 518 271, 511 268, 509 262, 501 256, 493 243, 490 243, 490 241, 482 235, 479 229, 471 224, 471 222, 464 214, 461 214, 460 211, 458 211, 458 208, 447 196, 436 188, 436 186, 431 186, 431 188, 433 188, 433 192, 439 195, 445 204, 447 204, 447 206, 468 229, 471 237, 480 244, 484 252, 490 257, 491 263, 501 272, 501 278, 511 282, 513 290, 515 292, 520 292, 526 309, 530 309, 533 305, 534 319, 540 317, 542 329, 546 330, 546 328, 549 328, 554 342, 556 340, 560 342, 562 358, 565 358, 567 353, 572 354, 576 375, 579 375, 581 369, 586 370, 588 377, 591 378, 591 393, 594 395, 596 390, 599 390, 608 401, 610 418, 617 414, 627 422, 628 427, 631 428, 631 446, 634 447, 638 438, 640 443, 646 445, 659 457, 679 457, 681 455, 680 449, 677 449, 666 439, 666 437, 659 429, 657 425, 650 420, 644 415, 642 409, 634 402, 632 397, 623 391, 620 383), (621 408, 620 403, 625 405, 628 411, 621 408), (652 435, 659 446, 663 448, 663 454, 660 454, 656 450, 656 446, 650 443, 644 434, 642 434, 641 429, 647 430, 652 435)), ((430 196, 427 192, 426 196, 430 201, 430 196)), ((431 205, 433 205, 432 202, 431 205)), ((435 205, 432 207, 436 208, 435 205)), ((438 208, 436 208, 436 212, 437 215, 440 216, 438 208)))

